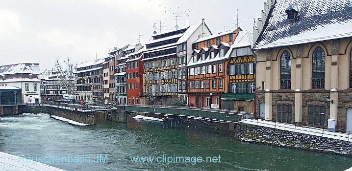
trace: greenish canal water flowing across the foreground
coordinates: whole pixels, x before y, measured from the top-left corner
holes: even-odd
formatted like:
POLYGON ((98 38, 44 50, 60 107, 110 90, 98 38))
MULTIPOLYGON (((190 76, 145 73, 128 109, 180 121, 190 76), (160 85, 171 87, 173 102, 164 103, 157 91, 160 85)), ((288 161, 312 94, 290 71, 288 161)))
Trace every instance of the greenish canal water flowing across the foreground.
POLYGON ((128 123, 78 127, 48 114, 29 113, 0 118, 0 151, 35 160, 85 158, 47 163, 67 171, 343 171, 352 167, 351 157, 251 144, 216 130, 164 129, 161 122, 131 118, 128 123), (174 155, 183 156, 183 163, 163 162, 162 158, 174 155), (132 162, 133 156, 160 157, 143 163, 132 162), (203 160, 196 163, 194 156, 203 160), (207 156, 216 157, 214 163, 207 163, 207 156))

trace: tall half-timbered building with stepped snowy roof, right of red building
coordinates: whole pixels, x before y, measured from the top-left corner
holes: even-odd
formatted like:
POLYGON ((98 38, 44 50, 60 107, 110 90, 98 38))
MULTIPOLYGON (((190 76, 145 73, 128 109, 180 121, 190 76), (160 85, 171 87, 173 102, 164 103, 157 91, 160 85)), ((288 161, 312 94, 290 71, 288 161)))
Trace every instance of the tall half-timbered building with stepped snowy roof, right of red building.
POLYGON ((144 51, 143 93, 145 104, 187 102, 186 65, 192 43, 210 35, 204 19, 201 23, 154 35, 144 51))

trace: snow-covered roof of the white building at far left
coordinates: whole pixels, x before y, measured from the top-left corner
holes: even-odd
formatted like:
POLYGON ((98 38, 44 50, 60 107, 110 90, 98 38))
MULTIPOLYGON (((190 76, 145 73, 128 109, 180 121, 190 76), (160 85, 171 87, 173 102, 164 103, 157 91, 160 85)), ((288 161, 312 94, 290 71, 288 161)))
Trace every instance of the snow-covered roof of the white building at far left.
POLYGON ((22 63, 0 66, 0 75, 8 74, 40 74, 39 64, 22 63))

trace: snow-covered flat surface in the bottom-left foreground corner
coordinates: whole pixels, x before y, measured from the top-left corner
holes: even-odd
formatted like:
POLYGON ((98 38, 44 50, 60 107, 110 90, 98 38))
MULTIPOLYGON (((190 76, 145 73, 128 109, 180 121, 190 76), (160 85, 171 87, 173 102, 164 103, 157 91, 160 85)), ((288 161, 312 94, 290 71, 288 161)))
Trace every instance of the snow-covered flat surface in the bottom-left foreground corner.
POLYGON ((43 163, 0 151, 1 171, 65 171, 43 163))

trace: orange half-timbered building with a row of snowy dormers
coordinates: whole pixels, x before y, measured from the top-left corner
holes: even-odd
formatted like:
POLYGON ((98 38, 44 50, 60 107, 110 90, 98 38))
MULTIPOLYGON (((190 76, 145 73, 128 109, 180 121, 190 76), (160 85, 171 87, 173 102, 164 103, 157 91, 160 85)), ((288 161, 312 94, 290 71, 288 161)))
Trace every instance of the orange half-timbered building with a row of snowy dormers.
POLYGON ((221 42, 194 50, 187 64, 189 105, 191 107, 221 108, 222 93, 226 90, 225 62, 231 53, 230 45, 221 42))

